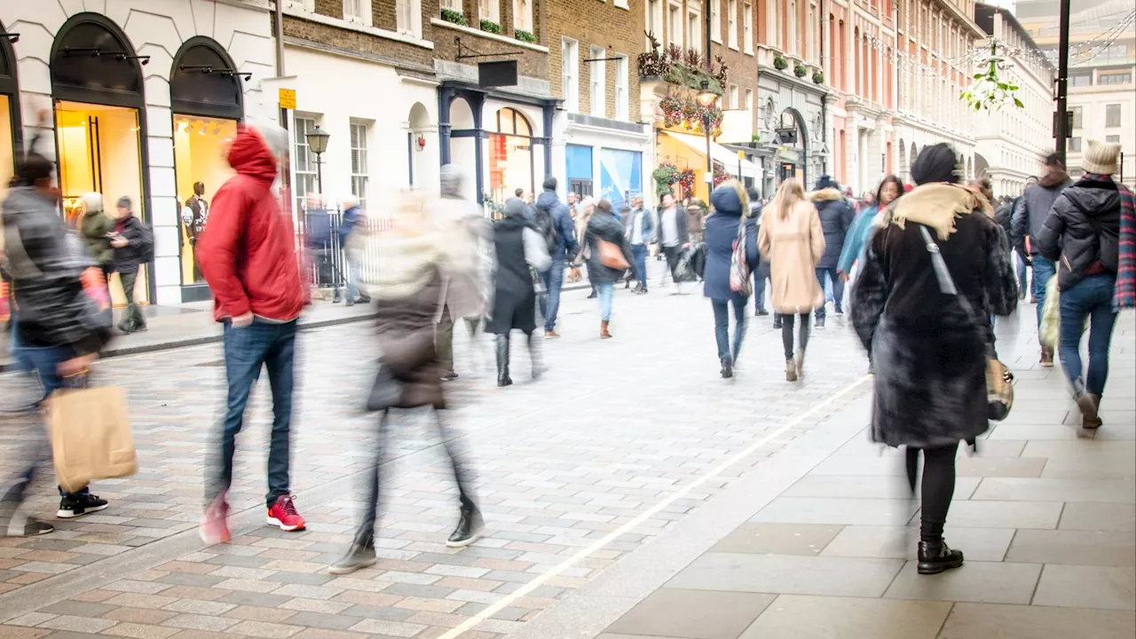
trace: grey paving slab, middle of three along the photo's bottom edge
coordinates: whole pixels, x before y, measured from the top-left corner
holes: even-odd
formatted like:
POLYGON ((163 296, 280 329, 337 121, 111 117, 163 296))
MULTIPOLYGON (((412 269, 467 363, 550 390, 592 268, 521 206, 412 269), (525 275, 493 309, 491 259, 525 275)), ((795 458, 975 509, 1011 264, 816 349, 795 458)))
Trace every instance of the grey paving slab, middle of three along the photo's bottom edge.
POLYGON ((935 639, 946 601, 782 595, 740 639, 935 639))

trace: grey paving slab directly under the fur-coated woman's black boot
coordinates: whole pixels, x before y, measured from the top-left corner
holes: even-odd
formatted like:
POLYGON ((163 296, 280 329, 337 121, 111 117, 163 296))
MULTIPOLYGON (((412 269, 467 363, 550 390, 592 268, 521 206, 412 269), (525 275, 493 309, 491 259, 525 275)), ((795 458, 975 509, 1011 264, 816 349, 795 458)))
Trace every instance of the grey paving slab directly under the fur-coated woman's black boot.
POLYGON ((925 575, 916 572, 916 562, 908 562, 884 597, 979 604, 1028 604, 1041 572, 1042 566, 1038 564, 968 561, 959 569, 925 575))

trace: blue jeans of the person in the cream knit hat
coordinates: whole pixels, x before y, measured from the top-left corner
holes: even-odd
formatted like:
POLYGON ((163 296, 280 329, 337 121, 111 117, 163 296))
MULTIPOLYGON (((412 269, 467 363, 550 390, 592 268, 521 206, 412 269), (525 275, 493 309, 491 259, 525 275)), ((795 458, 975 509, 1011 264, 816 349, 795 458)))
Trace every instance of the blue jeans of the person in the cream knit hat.
MULTIPOLYGON (((1036 268, 1037 263, 1034 265, 1036 268)), ((1109 377, 1109 343, 1117 320, 1112 310, 1116 281, 1114 275, 1089 275, 1061 291, 1061 366, 1078 392, 1084 390, 1096 397, 1104 395, 1104 382, 1109 377), (1086 317, 1089 321, 1088 379, 1081 382, 1080 337, 1086 317)))

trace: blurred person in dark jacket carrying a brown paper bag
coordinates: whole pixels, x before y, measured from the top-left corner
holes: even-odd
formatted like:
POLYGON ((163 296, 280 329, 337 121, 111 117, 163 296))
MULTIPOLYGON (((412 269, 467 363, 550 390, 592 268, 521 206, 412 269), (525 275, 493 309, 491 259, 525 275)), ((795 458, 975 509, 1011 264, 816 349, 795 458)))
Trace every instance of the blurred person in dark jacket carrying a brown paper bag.
MULTIPOLYGON (((45 116, 41 114, 41 124, 45 116)), ((35 149, 37 138, 32 140, 35 149)), ((11 188, 0 209, 3 269, 11 282, 12 355, 16 367, 39 380, 36 406, 60 388, 73 387, 110 341, 110 308, 100 308, 83 291, 83 273, 98 268, 82 240, 59 216, 59 191, 52 186, 55 163, 31 150, 19 158, 11 188)), ((41 414, 37 409, 36 414, 41 414)), ((31 414, 32 410, 28 412, 31 414)), ((24 509, 27 488, 51 455, 44 424, 31 425, 18 438, 15 458, 26 464, 0 497, 0 517, 9 537, 33 537, 55 530, 30 518, 24 509)), ((84 487, 59 490, 56 515, 72 518, 102 511, 107 500, 84 487)))

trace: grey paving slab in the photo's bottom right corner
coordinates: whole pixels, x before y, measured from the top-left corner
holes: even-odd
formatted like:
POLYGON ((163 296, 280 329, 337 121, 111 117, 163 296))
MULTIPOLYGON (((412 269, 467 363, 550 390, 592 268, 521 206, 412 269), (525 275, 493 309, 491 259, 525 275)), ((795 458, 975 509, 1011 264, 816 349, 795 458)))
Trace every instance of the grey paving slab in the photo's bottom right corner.
POLYGON ((1045 606, 955 604, 939 639, 1131 639, 1136 613, 1045 606))

